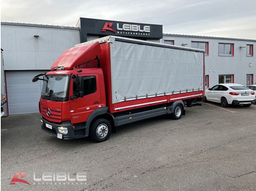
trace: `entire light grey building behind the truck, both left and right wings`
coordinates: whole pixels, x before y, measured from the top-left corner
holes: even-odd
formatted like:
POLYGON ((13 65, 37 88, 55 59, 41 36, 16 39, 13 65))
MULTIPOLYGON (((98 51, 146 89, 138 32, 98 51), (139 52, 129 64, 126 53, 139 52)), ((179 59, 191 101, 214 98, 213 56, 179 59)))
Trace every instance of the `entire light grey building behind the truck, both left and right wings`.
MULTIPOLYGON (((105 23, 105 20, 100 21, 105 23)), ((118 21, 108 22, 118 23, 118 21)), ((97 20, 95 23, 98 23, 97 20)), ((137 24, 136 26, 143 26, 141 23, 137 24)), ((154 25, 151 27, 159 28, 154 25)), ((91 31, 96 32, 88 33, 88 38, 104 35, 102 26, 97 28, 99 31, 90 28, 91 31)), ((42 84, 41 82, 33 83, 32 78, 49 71, 50 66, 64 50, 83 42, 81 31, 83 32, 78 27, 1 23, 1 48, 4 50, 7 104, 10 115, 39 112, 38 101, 42 84)), ((154 32, 157 34, 157 31, 154 32)), ((144 36, 144 34, 140 35, 144 36)), ((236 82, 242 85, 256 82, 254 79, 256 77, 254 55, 256 40, 173 34, 163 34, 162 39, 153 40, 206 50, 207 87, 219 82, 236 82)))

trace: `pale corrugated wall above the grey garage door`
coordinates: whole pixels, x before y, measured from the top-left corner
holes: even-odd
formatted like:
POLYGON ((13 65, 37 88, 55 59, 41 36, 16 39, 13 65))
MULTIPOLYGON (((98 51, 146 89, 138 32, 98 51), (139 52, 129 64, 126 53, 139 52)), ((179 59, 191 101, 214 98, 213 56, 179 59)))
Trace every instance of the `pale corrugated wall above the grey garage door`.
POLYGON ((45 70, 80 43, 79 29, 1 25, 5 70, 45 70), (39 35, 34 38, 34 34, 39 35))

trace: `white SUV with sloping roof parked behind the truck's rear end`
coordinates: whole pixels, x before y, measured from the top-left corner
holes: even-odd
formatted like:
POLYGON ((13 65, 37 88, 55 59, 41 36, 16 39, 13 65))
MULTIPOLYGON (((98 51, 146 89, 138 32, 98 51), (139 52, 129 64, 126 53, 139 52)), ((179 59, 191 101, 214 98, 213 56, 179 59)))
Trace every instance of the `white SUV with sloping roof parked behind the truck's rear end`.
POLYGON ((206 101, 214 101, 226 107, 229 104, 251 106, 255 92, 244 85, 218 84, 206 90, 206 101))

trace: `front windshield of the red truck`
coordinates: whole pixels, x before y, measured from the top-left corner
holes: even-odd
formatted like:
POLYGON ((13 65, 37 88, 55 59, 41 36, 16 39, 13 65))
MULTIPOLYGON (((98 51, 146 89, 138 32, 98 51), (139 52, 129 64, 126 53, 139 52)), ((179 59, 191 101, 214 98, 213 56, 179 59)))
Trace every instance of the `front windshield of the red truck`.
POLYGON ((41 98, 53 101, 67 99, 69 75, 48 75, 44 77, 41 98))

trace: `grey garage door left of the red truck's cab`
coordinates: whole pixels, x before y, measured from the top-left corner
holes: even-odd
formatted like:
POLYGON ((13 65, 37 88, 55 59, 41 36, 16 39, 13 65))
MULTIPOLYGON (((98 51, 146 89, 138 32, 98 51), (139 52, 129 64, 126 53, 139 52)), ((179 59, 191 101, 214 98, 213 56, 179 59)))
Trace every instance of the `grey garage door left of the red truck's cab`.
POLYGON ((6 71, 9 115, 37 113, 42 80, 33 77, 45 71, 6 71))

